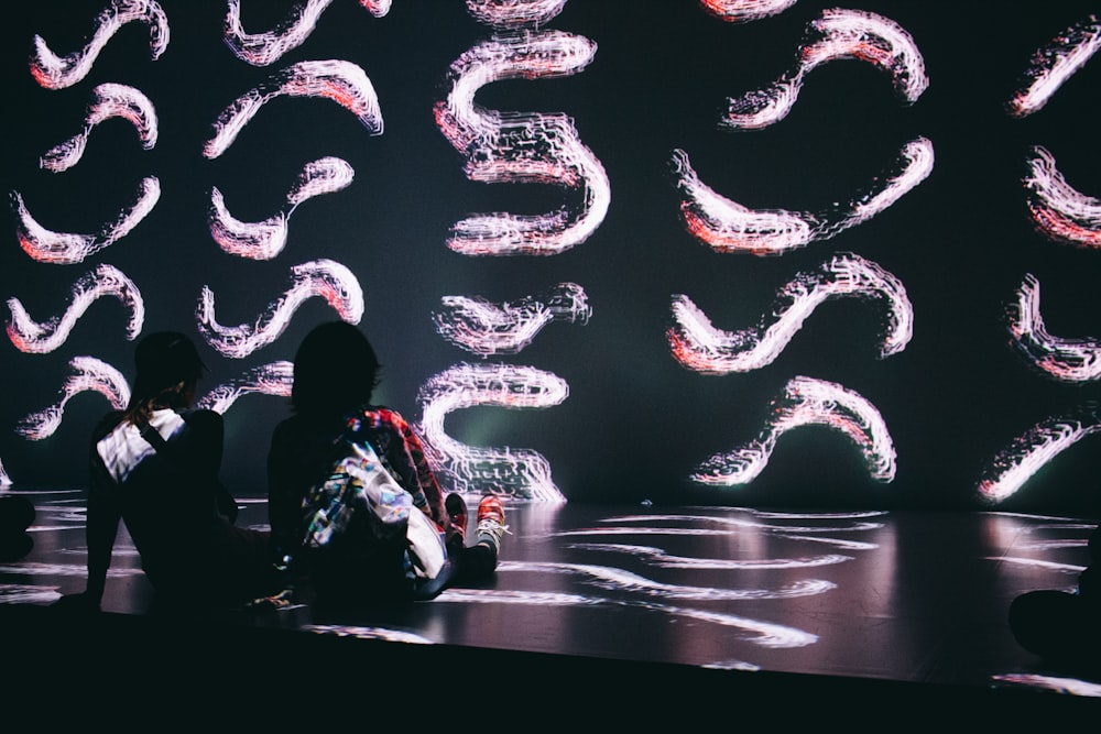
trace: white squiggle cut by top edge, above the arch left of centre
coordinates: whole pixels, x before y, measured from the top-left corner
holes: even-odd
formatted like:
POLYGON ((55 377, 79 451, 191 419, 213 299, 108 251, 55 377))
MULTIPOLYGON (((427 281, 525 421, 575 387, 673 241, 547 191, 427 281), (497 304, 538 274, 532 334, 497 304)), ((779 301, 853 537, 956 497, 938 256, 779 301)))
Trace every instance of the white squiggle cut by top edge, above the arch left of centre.
MULTIPOLYGON (((359 0, 375 18, 390 12, 391 0, 359 0)), ((253 66, 268 66, 306 42, 317 28, 321 13, 333 0, 306 0, 296 3, 286 20, 271 31, 248 33, 241 24, 241 0, 227 0, 225 37, 233 55, 253 66)))

